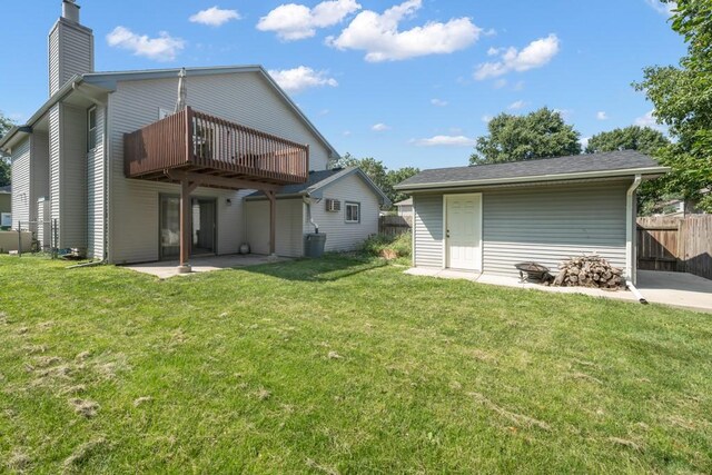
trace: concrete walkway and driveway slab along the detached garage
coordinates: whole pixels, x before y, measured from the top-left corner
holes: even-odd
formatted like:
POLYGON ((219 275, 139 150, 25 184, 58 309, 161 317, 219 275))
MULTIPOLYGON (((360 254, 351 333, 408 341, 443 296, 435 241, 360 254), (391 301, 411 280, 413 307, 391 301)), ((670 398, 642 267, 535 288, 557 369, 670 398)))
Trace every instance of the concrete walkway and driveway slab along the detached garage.
MULTIPOLYGON (((547 287, 540 284, 521 283, 516 277, 476 274, 472 271, 414 267, 405 271, 413 276, 466 279, 478 284, 498 285, 551 291, 557 294, 583 294, 592 297, 637 301, 627 290, 602 290, 589 287, 547 287)), ((649 303, 671 305, 712 313, 712 280, 684 273, 637 271, 637 289, 649 303)))

